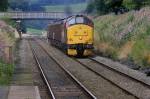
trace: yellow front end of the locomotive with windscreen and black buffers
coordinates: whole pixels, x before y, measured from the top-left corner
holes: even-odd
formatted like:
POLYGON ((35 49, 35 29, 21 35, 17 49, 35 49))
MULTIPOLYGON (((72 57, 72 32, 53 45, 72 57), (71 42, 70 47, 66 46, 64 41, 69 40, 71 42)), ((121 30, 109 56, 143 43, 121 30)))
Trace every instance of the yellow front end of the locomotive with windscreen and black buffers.
POLYGON ((94 41, 93 22, 83 15, 77 15, 68 18, 65 25, 67 54, 72 56, 91 55, 94 41))

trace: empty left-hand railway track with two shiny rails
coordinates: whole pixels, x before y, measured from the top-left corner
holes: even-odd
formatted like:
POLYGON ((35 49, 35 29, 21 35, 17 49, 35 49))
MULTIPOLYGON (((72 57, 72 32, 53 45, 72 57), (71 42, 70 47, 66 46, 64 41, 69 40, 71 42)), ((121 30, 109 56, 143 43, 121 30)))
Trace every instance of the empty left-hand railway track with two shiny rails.
POLYGON ((34 58, 41 71, 52 99, 97 99, 77 78, 35 40, 29 40, 34 58))

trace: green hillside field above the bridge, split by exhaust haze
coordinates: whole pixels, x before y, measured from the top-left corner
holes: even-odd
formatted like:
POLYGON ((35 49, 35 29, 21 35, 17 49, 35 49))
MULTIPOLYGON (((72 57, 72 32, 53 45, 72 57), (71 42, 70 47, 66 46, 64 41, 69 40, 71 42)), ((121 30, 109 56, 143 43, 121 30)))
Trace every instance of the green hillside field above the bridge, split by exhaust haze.
MULTIPOLYGON (((72 12, 81 12, 84 11, 87 7, 86 3, 80 3, 80 4, 71 4, 70 5, 72 12)), ((49 12, 64 12, 66 5, 50 5, 50 6, 44 6, 46 11, 49 12)))

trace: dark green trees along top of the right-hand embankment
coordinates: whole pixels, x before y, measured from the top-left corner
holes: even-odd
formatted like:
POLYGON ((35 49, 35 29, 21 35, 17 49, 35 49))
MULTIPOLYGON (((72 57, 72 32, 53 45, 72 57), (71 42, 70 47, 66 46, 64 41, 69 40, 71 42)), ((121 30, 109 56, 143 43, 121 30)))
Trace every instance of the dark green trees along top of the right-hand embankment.
POLYGON ((107 14, 109 12, 124 13, 129 10, 139 10, 150 5, 150 0, 91 0, 87 7, 87 12, 107 14))

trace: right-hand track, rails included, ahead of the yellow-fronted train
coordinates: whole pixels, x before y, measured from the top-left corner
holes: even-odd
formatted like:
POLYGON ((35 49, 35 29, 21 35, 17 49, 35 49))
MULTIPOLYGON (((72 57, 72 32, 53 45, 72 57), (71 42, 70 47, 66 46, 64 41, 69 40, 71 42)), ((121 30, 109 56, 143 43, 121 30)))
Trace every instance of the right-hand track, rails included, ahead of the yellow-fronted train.
POLYGON ((111 68, 95 58, 74 58, 74 60, 82 64, 82 66, 88 70, 111 82, 118 88, 124 90, 128 94, 131 94, 138 99, 150 99, 150 85, 148 83, 131 77, 117 69, 111 68))

